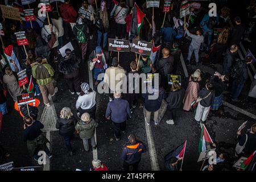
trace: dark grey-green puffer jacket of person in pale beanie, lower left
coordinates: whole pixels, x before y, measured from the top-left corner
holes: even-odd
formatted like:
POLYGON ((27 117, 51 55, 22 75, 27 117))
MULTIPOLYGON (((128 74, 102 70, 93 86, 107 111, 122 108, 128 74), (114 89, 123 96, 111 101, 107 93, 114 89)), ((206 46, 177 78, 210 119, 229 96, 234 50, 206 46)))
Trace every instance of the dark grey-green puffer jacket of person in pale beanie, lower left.
POLYGON ((90 139, 93 137, 97 126, 98 123, 96 123, 94 119, 91 119, 89 123, 80 120, 77 122, 75 129, 79 131, 79 137, 81 139, 90 139))

